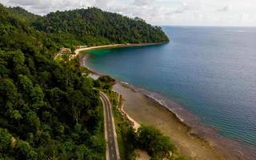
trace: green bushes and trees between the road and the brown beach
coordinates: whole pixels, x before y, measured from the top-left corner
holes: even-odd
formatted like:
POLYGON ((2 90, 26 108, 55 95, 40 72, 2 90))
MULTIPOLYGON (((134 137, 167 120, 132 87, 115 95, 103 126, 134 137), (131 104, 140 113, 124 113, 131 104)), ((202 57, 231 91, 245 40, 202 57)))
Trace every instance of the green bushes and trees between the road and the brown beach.
POLYGON ((108 95, 112 103, 121 159, 136 159, 134 150, 140 149, 146 150, 151 160, 162 160, 164 158, 186 160, 184 156, 178 153, 177 147, 171 142, 170 138, 163 135, 160 130, 154 128, 154 126, 142 124, 138 130, 134 130, 132 122, 120 111, 122 100, 119 94, 112 90, 114 84, 113 78, 102 76, 94 82, 97 82, 96 86, 98 86, 99 90, 104 91, 108 95), (105 88, 104 86, 110 87, 105 88))

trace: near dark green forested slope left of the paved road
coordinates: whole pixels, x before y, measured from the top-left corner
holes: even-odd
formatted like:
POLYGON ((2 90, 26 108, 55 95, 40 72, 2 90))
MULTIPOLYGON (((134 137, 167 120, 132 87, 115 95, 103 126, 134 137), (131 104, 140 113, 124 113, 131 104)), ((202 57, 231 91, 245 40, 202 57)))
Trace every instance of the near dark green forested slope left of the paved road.
POLYGON ((0 6, 0 159, 104 159, 92 80, 51 60, 44 34, 0 6))

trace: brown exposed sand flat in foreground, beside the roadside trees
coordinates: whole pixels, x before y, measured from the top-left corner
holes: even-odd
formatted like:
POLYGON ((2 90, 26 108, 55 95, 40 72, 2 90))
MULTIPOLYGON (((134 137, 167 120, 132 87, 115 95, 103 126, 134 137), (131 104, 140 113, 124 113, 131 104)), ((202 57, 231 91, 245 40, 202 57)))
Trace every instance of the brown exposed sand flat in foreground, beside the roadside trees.
POLYGON ((134 118, 136 122, 151 125, 161 130, 162 133, 172 139, 180 152, 190 159, 232 159, 224 158, 213 146, 201 138, 188 134, 189 128, 157 102, 122 86, 122 83, 114 85, 114 90, 124 96, 124 110, 130 117, 134 118))

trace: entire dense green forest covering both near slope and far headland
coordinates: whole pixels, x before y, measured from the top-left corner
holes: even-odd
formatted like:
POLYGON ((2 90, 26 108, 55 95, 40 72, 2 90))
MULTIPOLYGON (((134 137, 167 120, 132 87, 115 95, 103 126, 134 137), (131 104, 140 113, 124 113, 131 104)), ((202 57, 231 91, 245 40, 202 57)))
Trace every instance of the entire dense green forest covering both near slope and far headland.
POLYGON ((159 27, 97 8, 41 17, 0 4, 0 159, 105 159, 95 90, 104 78, 87 78, 76 59, 55 62, 53 54, 61 46, 167 41, 159 27))

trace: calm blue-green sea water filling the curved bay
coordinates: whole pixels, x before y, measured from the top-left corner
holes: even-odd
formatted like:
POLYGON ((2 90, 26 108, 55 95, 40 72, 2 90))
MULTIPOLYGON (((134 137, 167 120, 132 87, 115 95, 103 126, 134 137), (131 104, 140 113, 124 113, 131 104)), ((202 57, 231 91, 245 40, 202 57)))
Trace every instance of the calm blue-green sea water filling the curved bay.
POLYGON ((88 66, 177 99, 219 134, 256 146, 256 28, 163 29, 172 42, 93 50, 88 66))

